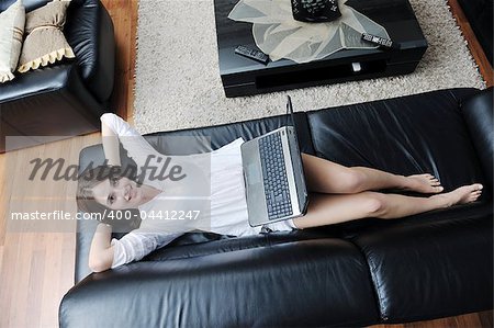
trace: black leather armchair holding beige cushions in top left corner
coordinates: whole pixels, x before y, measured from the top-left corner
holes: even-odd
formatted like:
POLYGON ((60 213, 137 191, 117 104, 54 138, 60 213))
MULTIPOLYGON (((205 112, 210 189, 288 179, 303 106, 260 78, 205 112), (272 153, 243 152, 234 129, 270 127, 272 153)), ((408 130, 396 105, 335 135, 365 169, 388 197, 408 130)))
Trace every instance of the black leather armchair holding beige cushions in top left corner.
MULTIPOLYGON (((0 12, 15 0, 0 0, 0 12)), ((24 0, 26 11, 47 0, 24 0)), ((98 131, 113 90, 113 23, 99 0, 71 0, 64 34, 76 58, 0 83, 0 152, 98 131)))

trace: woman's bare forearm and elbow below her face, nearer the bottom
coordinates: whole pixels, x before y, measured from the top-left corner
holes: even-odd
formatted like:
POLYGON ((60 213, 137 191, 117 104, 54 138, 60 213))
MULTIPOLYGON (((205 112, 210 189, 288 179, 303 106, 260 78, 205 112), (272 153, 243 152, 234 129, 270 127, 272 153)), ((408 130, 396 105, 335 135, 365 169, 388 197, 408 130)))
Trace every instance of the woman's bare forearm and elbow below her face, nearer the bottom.
POLYGON ((99 224, 92 237, 89 250, 89 268, 92 272, 109 270, 113 262, 113 246, 110 245, 112 238, 112 226, 99 224))

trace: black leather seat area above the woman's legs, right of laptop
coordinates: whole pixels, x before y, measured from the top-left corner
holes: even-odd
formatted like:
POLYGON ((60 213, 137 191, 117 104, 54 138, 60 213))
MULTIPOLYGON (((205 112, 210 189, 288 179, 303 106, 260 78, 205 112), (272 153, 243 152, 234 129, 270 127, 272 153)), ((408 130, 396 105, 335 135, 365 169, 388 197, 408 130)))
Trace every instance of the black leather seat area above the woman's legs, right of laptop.
MULTIPOLYGON (((452 190, 487 183, 453 89, 307 113, 317 156, 398 174, 435 174, 452 190)), ((489 196, 485 194, 485 196, 489 196)))

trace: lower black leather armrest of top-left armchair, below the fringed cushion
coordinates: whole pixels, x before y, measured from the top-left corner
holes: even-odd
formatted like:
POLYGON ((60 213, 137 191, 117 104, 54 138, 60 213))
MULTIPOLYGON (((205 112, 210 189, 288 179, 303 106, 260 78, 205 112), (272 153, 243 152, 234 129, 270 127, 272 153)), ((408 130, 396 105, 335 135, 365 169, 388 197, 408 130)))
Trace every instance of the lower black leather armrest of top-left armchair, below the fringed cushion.
POLYGON ((0 88, 0 152, 100 128, 103 109, 83 87, 74 63, 37 69, 11 82, 0 88), (18 138, 5 149, 8 135, 36 137, 18 138))

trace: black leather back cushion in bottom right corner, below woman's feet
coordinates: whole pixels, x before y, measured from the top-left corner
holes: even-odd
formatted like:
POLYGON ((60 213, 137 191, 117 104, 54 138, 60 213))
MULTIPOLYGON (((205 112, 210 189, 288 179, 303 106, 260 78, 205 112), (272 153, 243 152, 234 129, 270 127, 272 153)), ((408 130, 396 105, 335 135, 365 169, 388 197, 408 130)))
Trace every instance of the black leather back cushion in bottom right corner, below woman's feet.
POLYGON ((369 262, 383 320, 424 320, 493 307, 492 206, 491 201, 375 220, 355 230, 351 240, 369 262))

